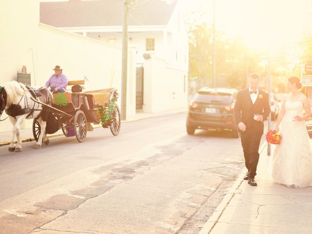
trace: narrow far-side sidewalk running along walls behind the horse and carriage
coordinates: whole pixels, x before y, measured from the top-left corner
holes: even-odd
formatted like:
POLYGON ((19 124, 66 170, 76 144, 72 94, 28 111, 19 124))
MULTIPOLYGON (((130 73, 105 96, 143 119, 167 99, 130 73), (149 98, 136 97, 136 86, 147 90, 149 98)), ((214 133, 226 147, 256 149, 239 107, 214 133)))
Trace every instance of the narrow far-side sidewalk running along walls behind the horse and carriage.
MULTIPOLYGON (((157 116, 166 116, 170 114, 177 114, 177 113, 184 113, 185 112, 185 118, 186 118, 186 112, 187 109, 175 109, 175 110, 168 110, 168 111, 161 111, 157 113, 137 113, 134 116, 129 116, 127 117, 127 120, 121 121, 121 123, 127 123, 127 122, 133 122, 145 118, 152 118, 152 117, 157 117, 157 116)), ((11 124, 11 122, 8 121, 8 124, 11 124)), ((13 127, 13 126, 12 126, 13 127)), ((94 128, 102 127, 101 125, 95 125, 94 128)), ((121 126, 122 129, 122 126, 121 126)), ((25 128, 25 129, 20 129, 20 136, 22 139, 22 142, 26 141, 34 141, 34 136, 33 136, 33 129, 32 128, 25 128)), ((48 134, 47 137, 58 137, 58 136, 63 136, 62 130, 59 130, 58 132, 54 134, 48 134)), ((12 137, 12 131, 8 132, 2 132, 0 133, 0 146, 3 145, 9 145, 11 143, 11 137, 12 137)))

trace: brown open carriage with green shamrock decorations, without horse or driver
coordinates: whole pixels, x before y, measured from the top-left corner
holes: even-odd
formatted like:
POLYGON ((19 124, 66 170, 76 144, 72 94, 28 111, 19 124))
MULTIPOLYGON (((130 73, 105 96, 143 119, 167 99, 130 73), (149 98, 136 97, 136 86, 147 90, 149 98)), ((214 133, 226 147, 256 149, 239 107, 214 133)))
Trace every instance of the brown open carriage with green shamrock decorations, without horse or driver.
MULTIPOLYGON (((71 93, 53 94, 52 105, 33 101, 46 107, 49 112, 46 122, 46 134, 62 129, 66 137, 76 136, 79 142, 85 140, 88 131, 93 131, 93 124, 110 128, 117 136, 120 131, 120 111, 117 106, 118 93, 115 88, 81 92, 84 80, 68 81, 73 85, 71 93)), ((33 134, 38 141, 41 127, 37 118, 33 120, 33 134)))

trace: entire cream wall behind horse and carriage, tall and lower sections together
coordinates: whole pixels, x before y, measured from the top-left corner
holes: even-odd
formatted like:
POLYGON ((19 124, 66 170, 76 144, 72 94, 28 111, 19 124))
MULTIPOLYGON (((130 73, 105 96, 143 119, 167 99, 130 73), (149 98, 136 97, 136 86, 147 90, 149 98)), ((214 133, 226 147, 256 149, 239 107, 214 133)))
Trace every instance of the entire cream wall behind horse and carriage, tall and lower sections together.
MULTIPOLYGON (((60 65, 70 80, 86 76, 86 90, 115 87, 120 93, 121 48, 39 24, 39 0, 2 0, 0 28, 0 85, 17 80, 22 65, 31 73, 32 85, 44 85, 55 65, 60 65)), ((130 48, 129 66, 136 64, 135 57, 130 48)), ((135 66, 128 67, 127 116, 136 111, 135 75, 135 66)), ((29 120, 22 124, 31 126, 29 120)), ((8 119, 0 122, 0 132, 11 129, 8 119)))

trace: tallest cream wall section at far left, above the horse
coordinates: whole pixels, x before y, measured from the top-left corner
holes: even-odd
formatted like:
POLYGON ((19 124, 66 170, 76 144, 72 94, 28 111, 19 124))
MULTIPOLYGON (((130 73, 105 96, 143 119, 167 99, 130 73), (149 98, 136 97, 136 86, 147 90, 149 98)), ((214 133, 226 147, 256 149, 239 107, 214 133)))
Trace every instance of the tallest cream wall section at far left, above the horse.
MULTIPOLYGON (((35 72, 32 57, 37 60, 38 23, 39 1, 1 0, 0 85, 17 80, 17 73, 23 65, 26 65, 33 82, 35 72)), ((5 113, 1 118, 3 117, 6 117, 5 113)), ((9 119, 0 122, 0 132, 11 129, 9 119)))

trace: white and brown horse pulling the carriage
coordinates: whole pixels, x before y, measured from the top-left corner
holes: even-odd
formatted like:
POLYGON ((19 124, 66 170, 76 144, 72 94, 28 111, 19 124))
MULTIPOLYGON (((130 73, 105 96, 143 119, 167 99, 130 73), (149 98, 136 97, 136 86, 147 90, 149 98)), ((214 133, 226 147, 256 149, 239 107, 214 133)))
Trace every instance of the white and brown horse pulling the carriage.
MULTIPOLYGON (((52 93, 46 87, 41 87, 38 91, 40 94, 40 97, 38 97, 39 101, 51 105, 53 100, 52 93)), ((38 118, 40 128, 45 129, 46 127, 49 114, 47 111, 48 107, 33 101, 31 97, 34 99, 37 98, 36 96, 34 97, 24 84, 15 80, 5 83, 0 89, 0 116, 3 110, 5 110, 14 125, 11 144, 9 146, 10 152, 21 151, 20 124, 24 119, 38 118), (15 144, 15 136, 17 138, 17 144, 15 144)), ((36 149, 41 148, 42 140, 45 144, 49 143, 45 131, 41 131, 35 146, 36 149)))

